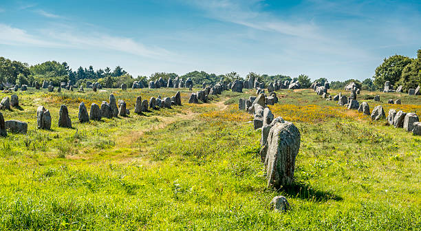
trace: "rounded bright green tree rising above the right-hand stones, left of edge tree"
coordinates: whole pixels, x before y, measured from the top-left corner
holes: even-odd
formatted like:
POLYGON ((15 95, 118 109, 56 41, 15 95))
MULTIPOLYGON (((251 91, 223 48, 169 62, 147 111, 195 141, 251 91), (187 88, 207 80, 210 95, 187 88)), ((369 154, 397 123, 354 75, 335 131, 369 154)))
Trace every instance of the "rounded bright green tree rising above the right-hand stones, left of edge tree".
POLYGON ((386 81, 390 81, 391 85, 395 85, 402 77, 404 67, 411 62, 411 58, 401 55, 385 58, 383 63, 376 68, 376 74, 373 76, 374 85, 379 89, 382 89, 385 86, 386 81))

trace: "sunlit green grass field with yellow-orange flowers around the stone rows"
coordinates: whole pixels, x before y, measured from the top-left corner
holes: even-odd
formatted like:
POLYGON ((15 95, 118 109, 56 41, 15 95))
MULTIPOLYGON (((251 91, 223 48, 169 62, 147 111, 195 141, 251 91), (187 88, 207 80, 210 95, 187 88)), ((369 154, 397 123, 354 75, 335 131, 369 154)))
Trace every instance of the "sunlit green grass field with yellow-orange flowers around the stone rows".
MULTIPOLYGON (((133 113, 136 96, 174 96, 176 89, 106 89, 86 93, 18 91, 20 109, 5 120, 28 133, 0 138, 0 230, 420 230, 421 137, 371 122, 311 90, 278 91, 275 116, 301 132, 295 184, 266 187, 260 132, 224 92, 208 104, 133 113), (127 118, 80 124, 78 104, 100 104, 113 92, 127 118), (73 129, 57 126, 66 104, 73 129), (36 108, 52 130, 36 129, 36 108), (291 209, 270 200, 284 195, 291 209)), ((332 91, 336 94, 337 91, 332 91)), ((348 94, 348 93, 347 93, 348 94)), ((421 115, 421 97, 363 91, 382 104, 421 115), (387 99, 401 98, 401 105, 387 99)), ((0 98, 11 94, 0 94, 0 98)))

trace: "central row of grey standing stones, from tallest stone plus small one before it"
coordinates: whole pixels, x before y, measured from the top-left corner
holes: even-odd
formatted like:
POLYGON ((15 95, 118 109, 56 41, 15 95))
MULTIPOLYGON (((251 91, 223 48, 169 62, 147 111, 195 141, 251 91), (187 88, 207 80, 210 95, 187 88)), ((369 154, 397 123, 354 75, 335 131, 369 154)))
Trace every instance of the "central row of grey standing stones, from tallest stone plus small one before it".
MULTIPOLYGON (((239 99, 239 110, 254 115, 253 126, 261 131, 261 162, 266 168, 268 186, 281 188, 293 184, 296 155, 299 153, 301 134, 292 122, 283 118, 274 118, 267 105, 278 102, 277 94, 270 92, 268 96, 261 92, 257 97, 248 100, 239 99)), ((289 207, 288 200, 277 196, 270 201, 270 208, 281 212, 289 207)))

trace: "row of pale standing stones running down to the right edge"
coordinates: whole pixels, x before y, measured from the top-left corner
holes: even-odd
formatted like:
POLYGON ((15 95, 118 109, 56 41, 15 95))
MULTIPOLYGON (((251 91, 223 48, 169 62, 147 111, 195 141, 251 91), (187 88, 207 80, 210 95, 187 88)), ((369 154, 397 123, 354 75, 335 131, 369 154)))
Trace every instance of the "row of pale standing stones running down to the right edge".
MULTIPOLYGON (((322 98, 326 98, 326 100, 338 101, 338 104, 347 107, 347 109, 358 110, 358 112, 361 112, 364 115, 369 115, 371 120, 387 119, 388 124, 391 126, 395 126, 396 128, 403 128, 405 131, 412 132, 413 135, 421 135, 421 122, 419 122, 419 118, 416 113, 405 113, 404 111, 396 112, 396 109, 390 109, 386 117, 385 111, 381 105, 374 107, 373 111, 370 113, 368 102, 358 102, 357 95, 360 94, 360 91, 358 88, 356 88, 356 85, 345 87, 345 89, 351 91, 351 95, 349 97, 343 96, 340 92, 333 98, 327 94, 328 88, 326 86, 321 86, 319 83, 313 83, 311 87, 314 89, 314 91, 316 91, 316 94, 322 98)), ((420 91, 420 87, 417 88, 417 91, 420 91)), ((375 96, 374 101, 380 101, 380 96, 375 96)), ((401 104, 400 99, 389 99, 387 102, 389 104, 401 104)))

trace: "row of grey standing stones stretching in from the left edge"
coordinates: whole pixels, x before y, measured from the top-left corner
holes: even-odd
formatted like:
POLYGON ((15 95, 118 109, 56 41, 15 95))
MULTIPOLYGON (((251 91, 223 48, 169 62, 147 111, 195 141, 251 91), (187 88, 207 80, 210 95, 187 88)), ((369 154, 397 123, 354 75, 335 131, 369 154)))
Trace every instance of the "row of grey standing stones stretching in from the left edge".
MULTIPOLYGON (((14 107, 19 106, 19 99, 16 95, 12 96, 12 99, 16 98, 17 104, 12 104, 14 107), (15 96, 15 97, 14 97, 15 96)), ((10 109, 9 98, 5 97, 0 102, 0 109, 10 109)), ((141 96, 136 98, 136 105, 134 112, 142 114, 142 112, 149 111, 149 109, 159 109, 159 108, 169 108, 171 106, 182 106, 181 103, 181 94, 180 91, 177 91, 175 96, 169 98, 161 99, 151 97, 149 102, 148 100, 142 100, 141 96)), ((78 120, 81 123, 89 122, 89 120, 101 120, 102 118, 113 118, 122 116, 125 117, 130 113, 129 109, 126 108, 126 102, 124 100, 118 100, 118 107, 116 103, 116 98, 114 94, 109 95, 109 102, 102 101, 101 106, 98 104, 92 103, 89 114, 84 102, 80 102, 79 111, 78 111, 78 120)), ((39 106, 36 110, 36 124, 38 129, 50 130, 52 124, 52 118, 50 111, 45 109, 43 106, 39 106)), ((67 110, 66 105, 61 105, 60 110, 58 111, 58 126, 65 128, 72 128, 72 120, 69 117, 69 111, 67 110)), ((22 122, 19 120, 8 120, 5 122, 3 114, 0 113, 0 135, 7 136, 7 130, 12 133, 27 133, 28 123, 22 122)))

